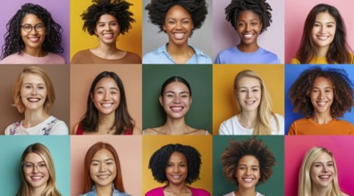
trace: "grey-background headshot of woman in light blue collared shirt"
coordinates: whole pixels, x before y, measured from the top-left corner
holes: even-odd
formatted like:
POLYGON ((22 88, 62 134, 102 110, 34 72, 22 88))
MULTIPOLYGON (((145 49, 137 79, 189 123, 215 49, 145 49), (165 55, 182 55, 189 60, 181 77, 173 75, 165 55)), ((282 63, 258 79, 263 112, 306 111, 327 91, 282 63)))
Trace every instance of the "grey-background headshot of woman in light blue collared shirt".
POLYGON ((143 63, 212 64, 208 55, 211 41, 207 41, 212 36, 211 3, 211 0, 144 0, 147 31, 143 35, 143 63))

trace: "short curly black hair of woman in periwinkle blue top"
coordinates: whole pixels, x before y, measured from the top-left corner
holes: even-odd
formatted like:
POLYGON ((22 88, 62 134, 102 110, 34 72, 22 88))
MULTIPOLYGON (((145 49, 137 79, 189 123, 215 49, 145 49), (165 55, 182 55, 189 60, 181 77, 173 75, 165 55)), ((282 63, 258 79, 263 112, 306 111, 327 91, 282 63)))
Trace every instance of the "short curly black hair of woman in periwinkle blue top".
POLYGON ((272 8, 265 0, 232 0, 232 3, 225 8, 226 20, 230 21, 233 28, 236 28, 240 13, 248 10, 257 13, 259 16, 262 22, 262 29, 259 34, 263 33, 272 22, 272 8))

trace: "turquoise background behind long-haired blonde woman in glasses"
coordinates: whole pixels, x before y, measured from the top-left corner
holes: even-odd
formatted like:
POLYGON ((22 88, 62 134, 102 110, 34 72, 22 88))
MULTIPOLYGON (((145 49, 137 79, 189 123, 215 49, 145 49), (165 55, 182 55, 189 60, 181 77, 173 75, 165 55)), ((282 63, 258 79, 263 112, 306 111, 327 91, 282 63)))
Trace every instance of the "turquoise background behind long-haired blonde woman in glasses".
POLYGON ((16 195, 21 184, 20 160, 31 143, 42 143, 55 161, 56 185, 62 195, 70 195, 69 136, 0 136, 0 195, 16 195))

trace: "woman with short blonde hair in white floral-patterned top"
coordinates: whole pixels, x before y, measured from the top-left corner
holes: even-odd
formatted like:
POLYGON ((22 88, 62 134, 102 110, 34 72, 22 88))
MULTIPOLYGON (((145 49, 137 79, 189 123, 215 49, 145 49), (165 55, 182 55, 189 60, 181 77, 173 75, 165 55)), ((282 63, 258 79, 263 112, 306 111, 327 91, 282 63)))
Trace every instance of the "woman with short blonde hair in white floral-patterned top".
POLYGON ((55 89, 46 71, 32 66, 22 70, 13 86, 14 106, 24 119, 5 130, 5 135, 68 135, 62 120, 49 115, 55 89))

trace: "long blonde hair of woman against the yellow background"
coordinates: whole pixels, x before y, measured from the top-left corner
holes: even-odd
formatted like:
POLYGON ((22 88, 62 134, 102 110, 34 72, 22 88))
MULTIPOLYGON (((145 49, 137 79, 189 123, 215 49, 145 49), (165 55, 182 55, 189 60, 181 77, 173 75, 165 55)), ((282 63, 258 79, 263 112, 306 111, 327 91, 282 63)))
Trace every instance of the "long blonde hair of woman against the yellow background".
POLYGON ((253 129, 253 135, 272 135, 272 126, 271 126, 272 118, 274 118, 276 122, 277 130, 279 132, 280 131, 279 120, 278 118, 276 118, 276 115, 272 111, 271 96, 265 87, 265 82, 263 81, 262 78, 260 78, 260 76, 254 70, 249 70, 249 69, 242 70, 235 77, 233 83, 233 89, 237 99, 237 106, 239 109, 238 114, 242 112, 242 108, 240 107, 240 102, 237 97, 238 84, 241 78, 256 78, 259 81, 261 87, 261 101, 259 103, 258 110, 257 110, 257 121, 256 121, 255 128, 253 129))

